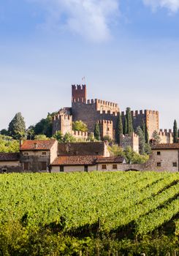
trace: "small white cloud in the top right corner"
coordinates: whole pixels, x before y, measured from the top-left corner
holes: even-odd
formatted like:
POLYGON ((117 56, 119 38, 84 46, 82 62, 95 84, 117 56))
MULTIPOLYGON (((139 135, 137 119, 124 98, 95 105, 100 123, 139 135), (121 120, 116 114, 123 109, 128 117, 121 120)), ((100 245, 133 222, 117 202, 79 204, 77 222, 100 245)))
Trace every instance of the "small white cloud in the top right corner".
POLYGON ((158 7, 167 8, 170 12, 178 12, 179 0, 143 0, 145 5, 151 6, 153 10, 158 7))

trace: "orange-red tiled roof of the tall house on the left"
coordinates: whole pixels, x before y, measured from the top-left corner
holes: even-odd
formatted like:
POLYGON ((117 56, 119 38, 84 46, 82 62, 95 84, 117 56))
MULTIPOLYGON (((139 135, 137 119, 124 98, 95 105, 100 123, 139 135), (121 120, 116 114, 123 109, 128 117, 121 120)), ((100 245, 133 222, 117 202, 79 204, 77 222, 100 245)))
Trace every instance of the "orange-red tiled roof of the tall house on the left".
POLYGON ((50 150, 56 140, 25 140, 20 150, 50 150))

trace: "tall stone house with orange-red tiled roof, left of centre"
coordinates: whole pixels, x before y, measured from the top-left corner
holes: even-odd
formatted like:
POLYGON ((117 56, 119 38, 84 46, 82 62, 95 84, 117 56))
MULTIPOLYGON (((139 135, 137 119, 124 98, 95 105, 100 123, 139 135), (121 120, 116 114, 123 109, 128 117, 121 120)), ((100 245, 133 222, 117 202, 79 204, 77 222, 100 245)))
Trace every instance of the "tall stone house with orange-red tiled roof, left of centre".
POLYGON ((20 146, 23 172, 47 172, 57 157, 57 140, 25 140, 20 146))

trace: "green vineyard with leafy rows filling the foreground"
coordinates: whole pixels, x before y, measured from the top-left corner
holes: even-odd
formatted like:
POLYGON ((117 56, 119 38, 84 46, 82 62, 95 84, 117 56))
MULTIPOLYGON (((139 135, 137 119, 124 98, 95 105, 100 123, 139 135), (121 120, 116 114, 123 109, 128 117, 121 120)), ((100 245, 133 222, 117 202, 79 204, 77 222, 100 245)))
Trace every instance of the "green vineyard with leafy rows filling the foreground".
POLYGON ((11 174, 0 176, 0 190, 2 255, 78 255, 92 241, 140 243, 161 232, 178 245, 178 173, 11 174))

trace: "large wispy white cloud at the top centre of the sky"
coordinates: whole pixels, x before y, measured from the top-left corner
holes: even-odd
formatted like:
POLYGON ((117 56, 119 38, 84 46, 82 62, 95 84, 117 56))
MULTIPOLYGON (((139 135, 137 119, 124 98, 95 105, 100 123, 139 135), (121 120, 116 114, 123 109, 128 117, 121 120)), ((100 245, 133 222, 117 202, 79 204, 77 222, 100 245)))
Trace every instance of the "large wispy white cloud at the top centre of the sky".
POLYGON ((46 26, 69 29, 93 41, 110 38, 110 25, 119 13, 119 0, 28 0, 43 4, 46 26))

